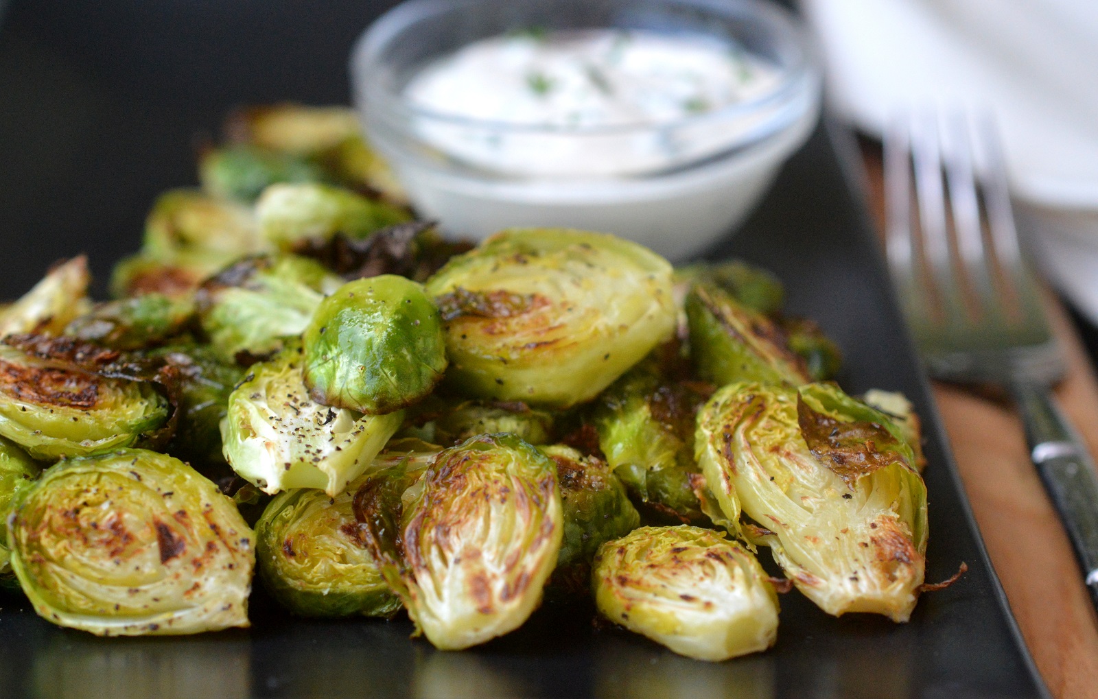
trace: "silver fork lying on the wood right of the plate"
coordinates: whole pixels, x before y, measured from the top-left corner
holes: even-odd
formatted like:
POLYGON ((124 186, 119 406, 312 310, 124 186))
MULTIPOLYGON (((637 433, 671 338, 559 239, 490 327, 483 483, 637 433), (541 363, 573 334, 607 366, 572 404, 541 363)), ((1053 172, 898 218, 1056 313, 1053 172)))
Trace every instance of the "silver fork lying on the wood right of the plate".
POLYGON ((1051 388, 1065 367, 1018 244, 989 119, 897 115, 885 133, 886 252, 930 374, 1013 397, 1030 456, 1098 607, 1098 473, 1051 388))

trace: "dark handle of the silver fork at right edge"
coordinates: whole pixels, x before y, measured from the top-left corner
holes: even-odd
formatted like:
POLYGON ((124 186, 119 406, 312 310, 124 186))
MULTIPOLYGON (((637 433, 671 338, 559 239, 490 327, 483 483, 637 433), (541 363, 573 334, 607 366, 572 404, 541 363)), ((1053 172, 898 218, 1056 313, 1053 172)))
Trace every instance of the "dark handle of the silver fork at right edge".
POLYGON ((1011 393, 1026 426, 1033 465, 1067 530, 1098 608, 1098 471, 1046 387, 1021 383, 1011 393))

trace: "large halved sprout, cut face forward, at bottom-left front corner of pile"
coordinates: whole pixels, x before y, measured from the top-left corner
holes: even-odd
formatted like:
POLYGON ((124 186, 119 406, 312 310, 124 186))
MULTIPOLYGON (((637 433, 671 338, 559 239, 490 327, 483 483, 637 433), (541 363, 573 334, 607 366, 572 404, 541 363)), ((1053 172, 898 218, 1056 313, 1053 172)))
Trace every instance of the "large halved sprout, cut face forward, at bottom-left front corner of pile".
POLYGON ((178 459, 121 449, 61 461, 16 498, 9 543, 53 623, 98 635, 248 625, 251 530, 178 459))

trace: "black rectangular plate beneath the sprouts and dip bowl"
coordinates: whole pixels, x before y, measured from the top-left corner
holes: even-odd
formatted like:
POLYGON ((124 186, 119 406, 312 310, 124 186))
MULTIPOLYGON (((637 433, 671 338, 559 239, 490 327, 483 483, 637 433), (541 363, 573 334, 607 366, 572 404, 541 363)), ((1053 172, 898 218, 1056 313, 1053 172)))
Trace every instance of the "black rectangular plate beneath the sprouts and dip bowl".
MULTIPOLYGON (((0 297, 87 251, 100 278, 138 245, 161 190, 193 183, 191 138, 237 102, 346 101, 344 61, 380 3, 259 0, 16 2, 0 33, 0 297)), ((991 571, 925 374, 903 329, 850 143, 820 128, 744 228, 713 258, 776 271, 791 308, 847 352, 851 392, 899 390, 927 429, 927 595, 911 621, 830 618, 782 600, 772 651, 722 664, 677 657, 591 610, 547 606, 519 631, 440 653, 406 620, 293 619, 257 591, 249 631, 101 640, 0 593, 0 696, 1044 697, 991 571), (852 151, 851 151, 852 153, 852 151), (842 155, 837 155, 842 154, 842 155)), ((765 560, 766 553, 762 554, 765 560)))

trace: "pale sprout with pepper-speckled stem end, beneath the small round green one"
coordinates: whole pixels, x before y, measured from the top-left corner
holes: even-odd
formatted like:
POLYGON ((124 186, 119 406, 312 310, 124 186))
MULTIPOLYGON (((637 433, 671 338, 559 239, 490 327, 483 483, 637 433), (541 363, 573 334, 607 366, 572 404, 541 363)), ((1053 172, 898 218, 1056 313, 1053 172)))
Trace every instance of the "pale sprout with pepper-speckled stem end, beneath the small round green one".
POLYGON ((366 471, 404 416, 362 416, 315 403, 302 363, 301 348, 288 347, 251 365, 221 421, 225 459, 265 493, 321 488, 335 497, 366 471))

